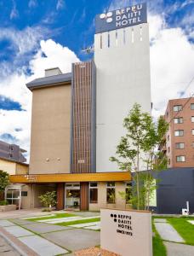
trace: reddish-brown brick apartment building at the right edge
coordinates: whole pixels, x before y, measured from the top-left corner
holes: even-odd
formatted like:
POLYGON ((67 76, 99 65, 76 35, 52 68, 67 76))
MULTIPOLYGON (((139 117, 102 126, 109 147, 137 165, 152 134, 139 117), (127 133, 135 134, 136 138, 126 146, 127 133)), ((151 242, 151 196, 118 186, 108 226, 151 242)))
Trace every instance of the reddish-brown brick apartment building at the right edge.
POLYGON ((194 166, 194 97, 168 101, 164 118, 169 123, 164 153, 168 167, 194 166))

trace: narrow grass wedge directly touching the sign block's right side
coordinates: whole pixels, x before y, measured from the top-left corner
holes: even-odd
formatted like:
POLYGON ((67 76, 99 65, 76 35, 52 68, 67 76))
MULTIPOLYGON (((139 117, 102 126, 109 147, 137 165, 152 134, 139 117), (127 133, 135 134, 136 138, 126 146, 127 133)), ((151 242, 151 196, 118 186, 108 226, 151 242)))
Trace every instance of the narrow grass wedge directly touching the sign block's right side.
POLYGON ((163 240, 157 233, 155 225, 152 223, 152 231, 155 233, 155 236, 152 236, 152 247, 153 247, 153 256, 166 256, 167 250, 163 244, 163 240))

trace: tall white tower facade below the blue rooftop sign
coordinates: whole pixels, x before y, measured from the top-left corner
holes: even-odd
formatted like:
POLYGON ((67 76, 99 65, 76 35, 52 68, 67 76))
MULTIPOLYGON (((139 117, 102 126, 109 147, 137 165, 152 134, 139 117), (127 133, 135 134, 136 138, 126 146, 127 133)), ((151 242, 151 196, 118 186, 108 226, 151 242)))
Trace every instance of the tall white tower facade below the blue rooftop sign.
POLYGON ((123 119, 137 102, 151 112, 148 24, 95 34, 96 172, 118 172, 109 160, 125 135, 123 119))

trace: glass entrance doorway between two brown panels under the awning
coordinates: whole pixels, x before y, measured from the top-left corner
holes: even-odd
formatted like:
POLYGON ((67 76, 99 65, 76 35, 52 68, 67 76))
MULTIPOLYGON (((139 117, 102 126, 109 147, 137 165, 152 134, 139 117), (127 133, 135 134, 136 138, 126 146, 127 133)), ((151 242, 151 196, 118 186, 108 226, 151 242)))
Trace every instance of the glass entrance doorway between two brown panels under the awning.
POLYGON ((65 206, 74 209, 80 207, 80 183, 66 183, 65 206))

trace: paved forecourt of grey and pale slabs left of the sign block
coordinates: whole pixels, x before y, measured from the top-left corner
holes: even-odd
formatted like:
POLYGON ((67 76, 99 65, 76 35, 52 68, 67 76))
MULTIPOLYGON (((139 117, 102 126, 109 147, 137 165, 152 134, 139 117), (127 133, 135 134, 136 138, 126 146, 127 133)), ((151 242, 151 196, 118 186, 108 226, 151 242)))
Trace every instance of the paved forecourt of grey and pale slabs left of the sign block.
POLYGON ((100 245, 100 232, 96 231, 100 229, 100 222, 79 224, 80 226, 51 224, 55 221, 61 223, 99 218, 100 215, 99 212, 82 212, 76 217, 53 218, 48 223, 32 222, 28 218, 0 219, 0 228, 38 255, 73 255, 71 252, 100 245))

